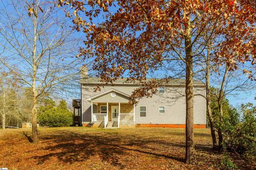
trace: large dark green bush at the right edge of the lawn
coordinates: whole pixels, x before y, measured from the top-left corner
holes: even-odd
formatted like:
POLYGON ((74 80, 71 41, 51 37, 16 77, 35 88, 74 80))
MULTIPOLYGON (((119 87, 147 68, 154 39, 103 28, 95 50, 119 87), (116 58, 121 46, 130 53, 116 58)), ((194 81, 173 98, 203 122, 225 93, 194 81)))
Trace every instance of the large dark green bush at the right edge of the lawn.
POLYGON ((256 107, 251 103, 242 105, 242 119, 236 110, 223 118, 223 150, 244 155, 249 161, 256 159, 256 107))

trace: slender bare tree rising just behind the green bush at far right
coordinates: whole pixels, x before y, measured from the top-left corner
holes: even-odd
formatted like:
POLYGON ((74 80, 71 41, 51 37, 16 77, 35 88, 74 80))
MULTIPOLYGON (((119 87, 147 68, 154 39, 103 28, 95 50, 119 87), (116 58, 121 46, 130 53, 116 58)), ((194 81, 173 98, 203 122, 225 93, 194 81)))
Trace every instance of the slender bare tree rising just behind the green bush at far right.
MULTIPOLYGON (((230 67, 224 63, 218 71, 212 70, 211 83, 212 86, 216 87, 214 92, 211 92, 216 96, 218 100, 218 117, 219 122, 222 122, 223 119, 223 102, 227 96, 234 96, 238 98, 239 93, 251 93, 252 90, 255 90, 255 81, 251 81, 251 78, 244 75, 242 70, 250 69, 252 72, 250 76, 254 76, 256 73, 255 68, 249 67, 246 65, 239 64, 237 70, 231 70, 230 67)), ((219 136, 219 148, 222 148, 222 131, 221 128, 218 128, 219 136)))

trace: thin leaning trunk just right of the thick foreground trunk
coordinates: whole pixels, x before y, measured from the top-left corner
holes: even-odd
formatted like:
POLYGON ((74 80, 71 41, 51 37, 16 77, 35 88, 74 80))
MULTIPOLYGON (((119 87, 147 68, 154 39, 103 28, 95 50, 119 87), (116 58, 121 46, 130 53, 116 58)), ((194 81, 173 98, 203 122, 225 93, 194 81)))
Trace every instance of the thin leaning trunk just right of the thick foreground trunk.
POLYGON ((211 135, 212 135, 212 145, 213 149, 217 148, 217 139, 216 134, 213 128, 213 118, 212 118, 212 108, 211 108, 211 94, 210 94, 210 49, 207 48, 207 60, 206 60, 206 106, 207 106, 207 115, 209 118, 211 135))

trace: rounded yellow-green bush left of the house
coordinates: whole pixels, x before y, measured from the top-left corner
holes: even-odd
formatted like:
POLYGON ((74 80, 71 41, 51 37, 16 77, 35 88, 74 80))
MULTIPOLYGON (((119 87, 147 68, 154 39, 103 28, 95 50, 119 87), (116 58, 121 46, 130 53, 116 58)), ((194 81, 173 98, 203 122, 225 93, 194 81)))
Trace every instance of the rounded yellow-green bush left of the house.
POLYGON ((38 122, 49 127, 70 126, 73 124, 73 114, 68 109, 51 108, 38 115, 38 122))

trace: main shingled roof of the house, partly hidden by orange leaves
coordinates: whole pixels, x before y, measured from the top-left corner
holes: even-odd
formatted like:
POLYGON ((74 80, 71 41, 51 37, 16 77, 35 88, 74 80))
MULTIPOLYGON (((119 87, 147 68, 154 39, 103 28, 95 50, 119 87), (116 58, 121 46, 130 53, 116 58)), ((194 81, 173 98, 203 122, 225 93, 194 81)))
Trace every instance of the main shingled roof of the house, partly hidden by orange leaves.
MULTIPOLYGON (((146 82, 153 80, 153 79, 161 79, 161 78, 146 78, 146 82)), ((118 78, 113 84, 119 84, 119 85, 139 85, 139 81, 135 81, 135 83, 125 83, 126 78, 118 78)), ((198 81, 198 80, 193 80, 194 81, 194 86, 205 86, 203 82, 198 81)), ((102 84, 100 82, 99 77, 84 77, 81 79, 81 84, 102 84)), ((110 84, 110 83, 109 83, 110 84)), ((164 85, 185 85, 185 79, 172 79, 170 83, 165 83, 164 85)))

